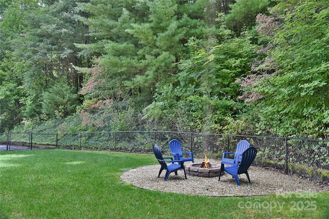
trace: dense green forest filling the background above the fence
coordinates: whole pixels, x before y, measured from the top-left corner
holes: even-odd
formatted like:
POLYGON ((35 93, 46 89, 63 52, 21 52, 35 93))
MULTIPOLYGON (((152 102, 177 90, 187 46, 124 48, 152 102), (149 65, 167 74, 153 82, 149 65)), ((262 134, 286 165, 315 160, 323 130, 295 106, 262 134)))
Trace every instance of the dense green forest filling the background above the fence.
POLYGON ((328 6, 2 0, 0 132, 56 124, 329 139, 328 6))

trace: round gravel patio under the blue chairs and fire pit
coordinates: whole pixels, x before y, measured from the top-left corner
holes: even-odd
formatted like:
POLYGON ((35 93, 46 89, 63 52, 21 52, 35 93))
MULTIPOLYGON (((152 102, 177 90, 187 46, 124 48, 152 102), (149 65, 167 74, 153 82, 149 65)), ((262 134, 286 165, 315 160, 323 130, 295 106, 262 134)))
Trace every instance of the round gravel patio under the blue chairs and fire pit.
MULTIPOLYGON (((195 163, 204 160, 195 159, 195 163)), ((211 164, 221 164, 221 160, 210 160, 211 164)), ((163 170, 160 177, 158 173, 160 165, 143 166, 124 172, 122 181, 142 189, 173 192, 191 195, 207 196, 251 196, 268 194, 289 194, 300 192, 329 192, 329 186, 307 181, 297 175, 286 175, 280 171, 262 167, 251 166, 248 169, 252 184, 248 183, 245 174, 240 175, 241 186, 236 186, 234 178, 225 173, 218 182, 217 177, 198 177, 178 171, 178 175, 171 173, 167 181, 164 181, 166 171, 163 170)))

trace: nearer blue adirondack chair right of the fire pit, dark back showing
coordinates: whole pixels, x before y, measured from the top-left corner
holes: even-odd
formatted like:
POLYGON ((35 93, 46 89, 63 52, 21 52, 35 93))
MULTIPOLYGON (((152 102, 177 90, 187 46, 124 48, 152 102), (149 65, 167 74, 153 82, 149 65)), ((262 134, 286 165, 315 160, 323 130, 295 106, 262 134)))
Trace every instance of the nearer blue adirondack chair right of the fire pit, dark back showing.
POLYGON ((242 174, 242 173, 245 173, 247 175, 248 181, 249 181, 249 183, 251 183, 250 177, 248 174, 248 168, 252 164, 254 158, 256 157, 256 154, 257 154, 257 149, 251 146, 242 153, 241 163, 232 165, 230 163, 225 163, 222 161, 221 171, 220 171, 220 176, 218 177, 218 181, 221 180, 221 174, 223 171, 225 171, 234 177, 237 186, 240 186, 239 174, 242 174), (232 166, 224 167, 224 164, 229 164, 232 166))

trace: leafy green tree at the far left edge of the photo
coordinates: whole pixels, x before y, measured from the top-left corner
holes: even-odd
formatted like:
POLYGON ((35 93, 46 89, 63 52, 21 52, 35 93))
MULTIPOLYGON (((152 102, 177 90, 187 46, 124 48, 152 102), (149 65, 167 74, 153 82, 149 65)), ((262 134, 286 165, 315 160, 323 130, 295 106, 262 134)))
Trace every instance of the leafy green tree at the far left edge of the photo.
POLYGON ((25 13, 38 7, 37 1, 2 1, 0 4, 0 132, 20 124, 25 95, 23 72, 29 65, 16 59, 14 50, 22 50, 28 31, 25 13))

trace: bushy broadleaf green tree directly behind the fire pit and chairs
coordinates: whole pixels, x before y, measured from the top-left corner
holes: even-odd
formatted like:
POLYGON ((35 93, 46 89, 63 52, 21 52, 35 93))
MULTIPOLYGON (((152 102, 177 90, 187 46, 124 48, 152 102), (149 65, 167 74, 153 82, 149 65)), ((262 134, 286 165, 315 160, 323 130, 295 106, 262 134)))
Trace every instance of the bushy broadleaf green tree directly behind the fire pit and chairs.
POLYGON ((173 125, 179 124, 175 130, 216 132, 239 117, 242 104, 236 99, 240 89, 235 80, 249 74, 258 47, 248 33, 233 37, 224 26, 221 32, 221 43, 214 37, 190 39, 190 57, 179 62, 180 72, 170 83, 158 84, 148 118, 170 118, 173 125))

